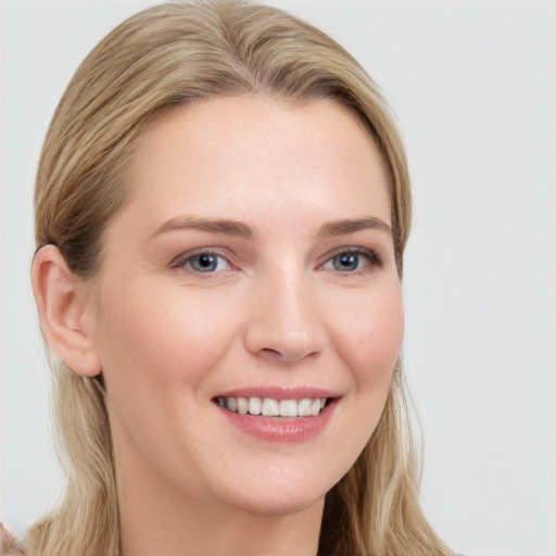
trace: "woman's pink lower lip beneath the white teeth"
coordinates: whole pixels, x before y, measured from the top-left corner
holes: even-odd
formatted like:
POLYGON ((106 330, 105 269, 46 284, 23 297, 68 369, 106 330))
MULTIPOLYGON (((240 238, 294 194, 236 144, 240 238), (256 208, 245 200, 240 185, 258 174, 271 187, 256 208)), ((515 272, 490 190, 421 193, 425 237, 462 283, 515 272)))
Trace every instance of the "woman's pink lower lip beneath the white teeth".
POLYGON ((238 429, 252 437, 269 442, 305 442, 315 438, 330 420, 338 400, 332 400, 315 417, 263 417, 241 415, 217 406, 223 415, 238 429))

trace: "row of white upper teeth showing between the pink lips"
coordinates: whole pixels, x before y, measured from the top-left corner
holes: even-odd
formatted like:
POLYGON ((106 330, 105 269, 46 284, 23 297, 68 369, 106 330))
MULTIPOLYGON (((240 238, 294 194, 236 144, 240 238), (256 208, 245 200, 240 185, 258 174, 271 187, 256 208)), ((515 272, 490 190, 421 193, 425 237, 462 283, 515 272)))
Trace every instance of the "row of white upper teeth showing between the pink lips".
POLYGON ((261 417, 316 417, 330 402, 328 397, 276 400, 274 397, 224 397, 215 400, 220 407, 240 415, 261 417))

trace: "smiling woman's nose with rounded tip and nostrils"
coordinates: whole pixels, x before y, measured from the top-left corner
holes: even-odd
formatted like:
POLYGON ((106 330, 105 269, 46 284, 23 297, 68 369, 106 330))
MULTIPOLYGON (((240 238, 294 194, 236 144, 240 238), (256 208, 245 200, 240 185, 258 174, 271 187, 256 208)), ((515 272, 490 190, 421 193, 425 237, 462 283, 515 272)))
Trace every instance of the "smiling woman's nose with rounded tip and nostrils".
POLYGON ((318 296, 303 273, 282 269, 251 293, 245 330, 249 352, 291 364, 324 350, 327 336, 318 296))

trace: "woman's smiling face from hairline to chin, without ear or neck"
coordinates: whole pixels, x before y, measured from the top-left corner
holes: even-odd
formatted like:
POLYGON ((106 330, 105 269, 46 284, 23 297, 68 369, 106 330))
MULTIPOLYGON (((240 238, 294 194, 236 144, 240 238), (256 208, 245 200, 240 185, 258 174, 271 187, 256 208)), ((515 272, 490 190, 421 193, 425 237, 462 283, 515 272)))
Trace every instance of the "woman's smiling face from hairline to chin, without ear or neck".
POLYGON ((402 343, 374 142, 331 101, 218 98, 156 121, 129 179, 87 313, 124 493, 267 515, 321 501, 402 343))

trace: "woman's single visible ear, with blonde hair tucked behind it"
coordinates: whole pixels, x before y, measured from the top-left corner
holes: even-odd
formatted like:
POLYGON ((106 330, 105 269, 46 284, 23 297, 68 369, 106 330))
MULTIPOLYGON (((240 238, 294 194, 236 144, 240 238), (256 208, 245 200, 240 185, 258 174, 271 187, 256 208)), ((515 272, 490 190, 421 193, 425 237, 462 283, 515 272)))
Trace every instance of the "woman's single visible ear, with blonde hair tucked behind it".
POLYGON ((101 365, 85 319, 90 283, 70 269, 58 248, 45 245, 33 260, 31 285, 50 348, 78 375, 99 375, 101 365))

